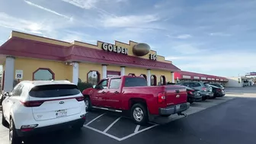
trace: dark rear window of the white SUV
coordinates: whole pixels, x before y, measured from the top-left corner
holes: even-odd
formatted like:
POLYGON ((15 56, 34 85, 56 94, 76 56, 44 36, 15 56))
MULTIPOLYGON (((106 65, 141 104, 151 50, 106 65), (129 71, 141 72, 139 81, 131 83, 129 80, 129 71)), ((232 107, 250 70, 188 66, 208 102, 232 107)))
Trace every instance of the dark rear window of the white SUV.
POLYGON ((29 92, 34 98, 55 98, 79 94, 76 85, 40 85, 32 88, 29 92))

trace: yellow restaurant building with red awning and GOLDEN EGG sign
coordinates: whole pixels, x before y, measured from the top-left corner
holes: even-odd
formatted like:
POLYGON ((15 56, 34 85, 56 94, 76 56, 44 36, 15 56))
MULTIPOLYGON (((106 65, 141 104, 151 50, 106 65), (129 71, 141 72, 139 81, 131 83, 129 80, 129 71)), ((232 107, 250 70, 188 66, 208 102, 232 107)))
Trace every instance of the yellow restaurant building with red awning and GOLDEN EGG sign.
POLYGON ((148 85, 165 85, 180 71, 146 43, 68 43, 18 31, 0 47, 0 65, 4 91, 22 80, 66 79, 95 85, 114 75, 142 76, 148 85))

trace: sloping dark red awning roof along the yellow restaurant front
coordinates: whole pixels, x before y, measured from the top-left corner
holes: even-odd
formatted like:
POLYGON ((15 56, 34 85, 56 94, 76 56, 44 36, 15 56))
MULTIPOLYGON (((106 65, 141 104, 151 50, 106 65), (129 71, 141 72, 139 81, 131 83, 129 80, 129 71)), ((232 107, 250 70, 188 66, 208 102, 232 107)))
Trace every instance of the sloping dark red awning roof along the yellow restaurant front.
POLYGON ((162 69, 170 72, 180 71, 178 67, 168 62, 158 62, 136 56, 110 53, 84 46, 59 46, 18 37, 12 37, 4 43, 0 47, 0 54, 59 61, 98 62, 101 64, 135 66, 145 69, 162 69))

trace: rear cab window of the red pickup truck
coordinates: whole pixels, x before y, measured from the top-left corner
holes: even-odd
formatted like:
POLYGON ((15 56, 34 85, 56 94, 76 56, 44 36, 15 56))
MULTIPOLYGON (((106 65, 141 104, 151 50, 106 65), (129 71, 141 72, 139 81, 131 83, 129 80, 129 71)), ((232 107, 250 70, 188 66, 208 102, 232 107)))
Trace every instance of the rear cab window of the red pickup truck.
POLYGON ((124 87, 139 87, 139 86, 147 86, 147 82, 145 78, 125 78, 124 87))

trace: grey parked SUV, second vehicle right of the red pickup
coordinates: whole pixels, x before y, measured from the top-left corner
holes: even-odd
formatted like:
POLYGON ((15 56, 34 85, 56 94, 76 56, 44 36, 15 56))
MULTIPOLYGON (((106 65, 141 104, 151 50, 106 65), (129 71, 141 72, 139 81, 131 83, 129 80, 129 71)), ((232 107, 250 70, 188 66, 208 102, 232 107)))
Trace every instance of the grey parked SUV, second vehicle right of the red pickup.
POLYGON ((181 82, 181 84, 199 90, 203 101, 213 98, 213 88, 207 82, 181 82))

